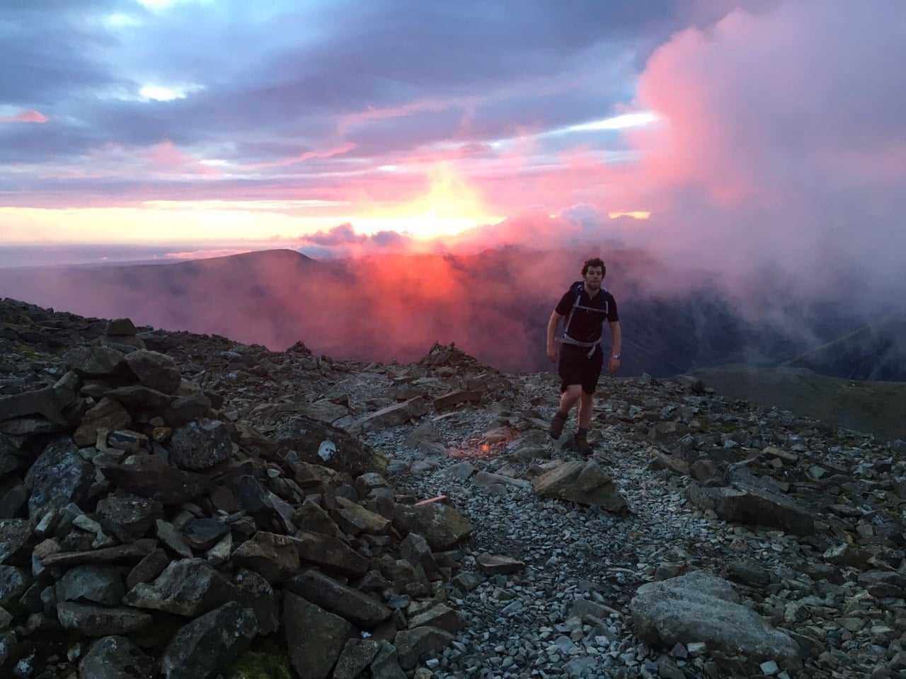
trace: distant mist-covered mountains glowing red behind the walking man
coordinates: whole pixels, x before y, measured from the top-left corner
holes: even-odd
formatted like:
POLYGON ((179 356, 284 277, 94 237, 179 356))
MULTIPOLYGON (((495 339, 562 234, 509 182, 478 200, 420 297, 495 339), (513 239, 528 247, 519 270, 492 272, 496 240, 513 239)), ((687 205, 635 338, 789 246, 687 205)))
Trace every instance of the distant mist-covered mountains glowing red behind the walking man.
MULTIPOLYGON (((337 359, 406 362, 436 340, 455 342, 518 372, 553 368, 545 326, 586 256, 507 247, 317 262, 274 250, 171 264, 0 269, 0 292, 59 311, 129 317, 269 349, 302 340, 337 359)), ((798 320, 795 331, 752 320, 757 306, 744 313, 707 276, 680 275, 638 250, 609 252, 607 268, 604 283, 621 316, 623 375, 776 365, 864 322, 793 302, 785 313, 798 320)), ((771 291, 759 292, 767 298, 771 291)), ((891 375, 901 374, 893 368, 891 375)))

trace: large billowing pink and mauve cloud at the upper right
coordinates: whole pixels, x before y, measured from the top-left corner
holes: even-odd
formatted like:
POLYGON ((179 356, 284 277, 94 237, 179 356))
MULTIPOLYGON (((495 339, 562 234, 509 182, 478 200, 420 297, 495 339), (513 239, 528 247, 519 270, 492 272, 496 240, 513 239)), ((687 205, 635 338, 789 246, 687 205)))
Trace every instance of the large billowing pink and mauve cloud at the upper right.
POLYGON ((637 105, 664 122, 628 130, 641 160, 604 177, 654 213, 647 244, 746 285, 770 267, 826 294, 843 267, 890 294, 906 251, 904 22, 906 5, 804 0, 662 45, 637 105))

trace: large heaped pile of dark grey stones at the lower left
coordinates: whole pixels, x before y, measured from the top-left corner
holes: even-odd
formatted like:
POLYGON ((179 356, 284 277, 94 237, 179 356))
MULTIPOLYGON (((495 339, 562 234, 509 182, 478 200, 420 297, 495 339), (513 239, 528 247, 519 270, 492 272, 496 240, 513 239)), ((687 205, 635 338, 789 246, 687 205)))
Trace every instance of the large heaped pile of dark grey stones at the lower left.
POLYGON ((280 450, 229 422, 129 320, 94 334, 0 397, 0 676, 204 679, 257 655, 394 679, 452 641, 443 581, 472 530, 452 506, 396 497, 330 425, 280 450))

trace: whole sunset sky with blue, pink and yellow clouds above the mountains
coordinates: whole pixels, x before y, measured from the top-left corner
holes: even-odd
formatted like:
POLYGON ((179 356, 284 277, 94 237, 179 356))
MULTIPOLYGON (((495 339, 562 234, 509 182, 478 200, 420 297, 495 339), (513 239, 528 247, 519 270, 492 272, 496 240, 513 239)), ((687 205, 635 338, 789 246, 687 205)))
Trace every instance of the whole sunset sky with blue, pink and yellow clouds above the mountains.
POLYGON ((0 265, 588 243, 893 299, 903 72, 900 0, 4 0, 0 265))

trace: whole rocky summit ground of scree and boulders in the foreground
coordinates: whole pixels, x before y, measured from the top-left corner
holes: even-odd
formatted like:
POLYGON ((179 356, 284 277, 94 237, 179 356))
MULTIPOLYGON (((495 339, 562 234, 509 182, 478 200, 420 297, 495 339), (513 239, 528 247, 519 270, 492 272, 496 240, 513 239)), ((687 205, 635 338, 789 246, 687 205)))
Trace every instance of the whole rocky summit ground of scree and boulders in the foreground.
POLYGON ((556 385, 0 302, 0 676, 906 677, 906 445, 556 385))

